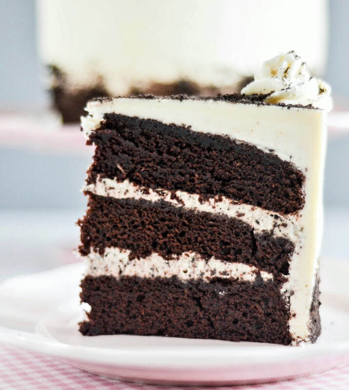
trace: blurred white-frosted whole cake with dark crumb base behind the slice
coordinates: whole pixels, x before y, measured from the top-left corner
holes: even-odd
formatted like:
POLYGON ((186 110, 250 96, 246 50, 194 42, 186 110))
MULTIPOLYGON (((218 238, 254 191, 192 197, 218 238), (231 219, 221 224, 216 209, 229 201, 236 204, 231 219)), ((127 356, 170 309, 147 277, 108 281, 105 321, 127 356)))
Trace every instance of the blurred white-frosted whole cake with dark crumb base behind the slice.
POLYGON ((39 0, 38 10, 40 55, 54 65, 65 123, 94 97, 240 92, 275 48, 307 53, 315 75, 325 67, 326 0, 39 0))

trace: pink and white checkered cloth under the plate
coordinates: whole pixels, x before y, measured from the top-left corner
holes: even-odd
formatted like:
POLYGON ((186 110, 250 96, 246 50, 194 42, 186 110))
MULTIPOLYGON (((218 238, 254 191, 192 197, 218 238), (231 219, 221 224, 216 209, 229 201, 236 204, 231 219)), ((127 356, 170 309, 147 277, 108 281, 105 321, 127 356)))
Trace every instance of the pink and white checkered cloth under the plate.
MULTIPOLYGON (((137 385, 105 379, 58 360, 5 345, 0 346, 1 390, 174 390, 164 386, 137 385)), ((214 388, 212 388, 214 389, 214 388)), ((228 387, 221 388, 230 389, 228 387)), ((349 389, 349 365, 307 378, 265 385, 238 386, 232 390, 330 390, 349 389)))

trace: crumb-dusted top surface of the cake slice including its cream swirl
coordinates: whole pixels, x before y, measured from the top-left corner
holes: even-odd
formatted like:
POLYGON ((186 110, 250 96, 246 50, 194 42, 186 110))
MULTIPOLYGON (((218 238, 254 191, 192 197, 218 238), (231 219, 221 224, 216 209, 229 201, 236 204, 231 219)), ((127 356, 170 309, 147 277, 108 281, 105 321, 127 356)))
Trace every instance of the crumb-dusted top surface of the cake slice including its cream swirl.
POLYGON ((293 51, 287 54, 280 54, 265 61, 254 75, 254 81, 244 87, 240 94, 218 95, 215 97, 187 95, 174 95, 169 97, 158 97, 154 95, 118 96, 115 98, 94 98, 91 102, 103 103, 118 98, 172 99, 180 101, 211 100, 233 104, 321 109, 327 112, 332 108, 330 86, 320 79, 311 77, 305 62, 293 51))

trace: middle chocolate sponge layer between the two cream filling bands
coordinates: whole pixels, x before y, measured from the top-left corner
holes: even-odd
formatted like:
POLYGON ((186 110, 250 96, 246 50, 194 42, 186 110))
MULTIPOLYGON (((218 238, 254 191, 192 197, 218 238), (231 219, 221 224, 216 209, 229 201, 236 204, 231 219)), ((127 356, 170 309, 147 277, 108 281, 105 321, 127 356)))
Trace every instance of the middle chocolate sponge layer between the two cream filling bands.
POLYGON ((81 227, 81 255, 91 248, 103 254, 106 247, 130 250, 130 259, 153 252, 171 260, 173 254, 193 251, 214 258, 250 264, 275 274, 288 274, 294 244, 270 232, 256 234, 237 218, 176 207, 163 200, 116 199, 89 194, 81 227))

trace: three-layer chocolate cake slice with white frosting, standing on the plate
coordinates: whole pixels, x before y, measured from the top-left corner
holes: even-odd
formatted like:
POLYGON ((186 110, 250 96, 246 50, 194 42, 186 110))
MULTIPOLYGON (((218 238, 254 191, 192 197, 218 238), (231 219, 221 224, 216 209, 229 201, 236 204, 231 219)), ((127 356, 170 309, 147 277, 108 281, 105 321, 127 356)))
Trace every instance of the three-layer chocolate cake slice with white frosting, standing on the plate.
POLYGON ((288 53, 242 92, 88 103, 82 334, 319 336, 328 86, 288 53))

